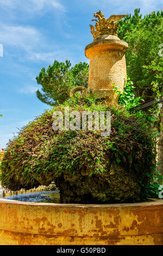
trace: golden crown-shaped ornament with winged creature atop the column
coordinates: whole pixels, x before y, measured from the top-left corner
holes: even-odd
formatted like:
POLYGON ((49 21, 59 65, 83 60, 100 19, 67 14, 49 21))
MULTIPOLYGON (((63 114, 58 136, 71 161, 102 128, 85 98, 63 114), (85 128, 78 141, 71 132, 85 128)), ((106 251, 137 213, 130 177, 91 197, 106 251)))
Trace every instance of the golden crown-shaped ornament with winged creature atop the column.
POLYGON ((101 10, 97 11, 93 15, 98 20, 93 19, 92 21, 96 21, 95 27, 90 25, 91 33, 93 35, 93 39, 95 40, 97 36, 110 34, 117 36, 118 26, 120 24, 120 20, 126 15, 111 15, 109 19, 105 19, 101 10), (116 21, 119 21, 115 23, 116 21), (96 30, 95 30, 96 29, 96 30))

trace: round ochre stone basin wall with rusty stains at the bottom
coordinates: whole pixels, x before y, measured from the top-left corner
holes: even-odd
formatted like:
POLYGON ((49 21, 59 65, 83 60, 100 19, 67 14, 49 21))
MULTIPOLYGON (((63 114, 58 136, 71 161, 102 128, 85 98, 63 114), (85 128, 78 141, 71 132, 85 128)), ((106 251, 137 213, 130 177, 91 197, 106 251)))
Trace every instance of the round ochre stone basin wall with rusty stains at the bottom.
POLYGON ((52 204, 0 199, 0 245, 163 245, 163 200, 52 204))

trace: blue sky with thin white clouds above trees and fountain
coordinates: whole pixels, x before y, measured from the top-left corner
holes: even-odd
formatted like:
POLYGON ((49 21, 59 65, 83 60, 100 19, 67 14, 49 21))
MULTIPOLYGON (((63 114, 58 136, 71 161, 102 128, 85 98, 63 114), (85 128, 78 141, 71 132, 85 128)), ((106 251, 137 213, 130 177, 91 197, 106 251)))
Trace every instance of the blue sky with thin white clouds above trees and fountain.
POLYGON ((84 48, 92 42, 89 24, 101 9, 105 17, 143 15, 163 8, 162 0, 0 0, 0 149, 18 129, 48 105, 36 97, 35 77, 54 59, 72 65, 89 60, 84 48))

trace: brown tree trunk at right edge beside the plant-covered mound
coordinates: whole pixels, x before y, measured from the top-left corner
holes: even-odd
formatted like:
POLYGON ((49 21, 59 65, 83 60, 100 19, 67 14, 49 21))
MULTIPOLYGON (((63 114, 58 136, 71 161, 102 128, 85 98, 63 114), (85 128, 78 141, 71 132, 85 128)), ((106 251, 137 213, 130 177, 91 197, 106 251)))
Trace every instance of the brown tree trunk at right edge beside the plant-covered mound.
POLYGON ((163 102, 162 102, 162 109, 161 109, 161 136, 158 143, 158 163, 159 163, 158 170, 163 176, 163 102))

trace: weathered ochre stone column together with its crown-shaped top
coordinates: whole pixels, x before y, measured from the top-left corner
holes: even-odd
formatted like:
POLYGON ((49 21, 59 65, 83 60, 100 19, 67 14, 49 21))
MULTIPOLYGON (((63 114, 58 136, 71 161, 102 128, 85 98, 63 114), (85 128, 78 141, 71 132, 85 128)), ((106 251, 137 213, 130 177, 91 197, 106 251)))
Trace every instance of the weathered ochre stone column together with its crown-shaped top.
POLYGON ((90 59, 89 89, 97 92, 110 90, 110 96, 106 99, 110 103, 117 103, 118 96, 112 90, 115 84, 118 90, 123 92, 126 80, 127 42, 117 37, 118 21, 126 15, 111 15, 105 19, 101 11, 94 14, 95 28, 90 25, 93 34, 93 42, 85 47, 85 56, 90 59))

